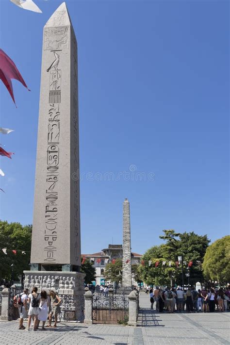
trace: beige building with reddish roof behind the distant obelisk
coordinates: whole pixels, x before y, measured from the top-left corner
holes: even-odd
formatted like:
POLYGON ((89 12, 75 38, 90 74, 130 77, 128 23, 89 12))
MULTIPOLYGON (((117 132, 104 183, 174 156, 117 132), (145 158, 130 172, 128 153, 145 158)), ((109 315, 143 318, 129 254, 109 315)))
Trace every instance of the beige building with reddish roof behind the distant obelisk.
MULTIPOLYGON (((105 280, 104 272, 108 263, 111 263, 113 259, 122 259, 122 245, 109 245, 108 248, 102 249, 98 253, 94 254, 82 254, 83 257, 89 258, 94 263, 96 268, 96 280, 92 282, 94 285, 106 285, 110 281, 105 280)), ((131 252, 131 265, 140 264, 142 255, 131 252)), ((134 281, 132 281, 134 284, 134 281)))

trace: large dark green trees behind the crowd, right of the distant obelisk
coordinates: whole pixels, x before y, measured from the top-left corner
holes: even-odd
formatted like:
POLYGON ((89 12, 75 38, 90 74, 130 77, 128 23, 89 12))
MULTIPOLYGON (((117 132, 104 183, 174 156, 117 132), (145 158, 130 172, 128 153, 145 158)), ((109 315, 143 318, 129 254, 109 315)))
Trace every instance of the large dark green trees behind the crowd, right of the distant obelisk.
MULTIPOLYGON (((143 265, 139 266, 142 279, 149 285, 173 285, 182 284, 181 265, 177 267, 178 256, 183 256, 184 273, 190 273, 190 284, 198 280, 203 281, 201 261, 203 260, 206 248, 210 240, 207 235, 199 236, 194 232, 176 233, 175 230, 164 230, 160 236, 165 241, 160 246, 153 246, 143 255, 143 265), (148 262, 151 261, 151 265, 148 262), (163 266, 162 263, 166 261, 163 266), (171 267, 168 262, 171 261, 171 267), (193 265, 187 268, 188 263, 193 265), (155 263, 159 265, 155 267, 155 263)), ((184 282, 186 279, 184 277, 184 282)))

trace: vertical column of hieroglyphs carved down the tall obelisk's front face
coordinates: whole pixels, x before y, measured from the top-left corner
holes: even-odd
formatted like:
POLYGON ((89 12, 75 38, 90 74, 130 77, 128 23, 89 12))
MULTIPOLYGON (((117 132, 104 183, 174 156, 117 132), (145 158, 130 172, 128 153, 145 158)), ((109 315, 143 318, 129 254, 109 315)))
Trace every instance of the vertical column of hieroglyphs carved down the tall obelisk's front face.
MULTIPOLYGON (((55 263, 58 224, 58 174, 59 174, 59 137, 60 137, 60 103, 61 70, 58 69, 60 54, 54 52, 55 60, 47 69, 49 73, 49 110, 47 121, 47 172, 46 172, 46 208, 44 261, 55 263), (57 61, 58 63, 54 63, 57 61)), ((50 282, 51 284, 51 282, 50 282)))

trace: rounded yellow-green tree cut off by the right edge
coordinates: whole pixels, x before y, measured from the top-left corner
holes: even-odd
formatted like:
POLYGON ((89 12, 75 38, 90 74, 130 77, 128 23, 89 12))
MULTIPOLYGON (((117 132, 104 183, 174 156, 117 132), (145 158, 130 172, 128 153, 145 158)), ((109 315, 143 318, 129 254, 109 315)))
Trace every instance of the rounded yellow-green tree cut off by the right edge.
POLYGON ((204 277, 221 285, 230 281, 230 236, 225 236, 210 245, 204 255, 204 277))

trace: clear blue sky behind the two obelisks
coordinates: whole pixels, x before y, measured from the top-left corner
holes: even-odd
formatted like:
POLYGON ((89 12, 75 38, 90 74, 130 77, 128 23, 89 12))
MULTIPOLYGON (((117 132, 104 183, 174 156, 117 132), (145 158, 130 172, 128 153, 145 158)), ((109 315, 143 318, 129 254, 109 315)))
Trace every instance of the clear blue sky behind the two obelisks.
MULTIPOLYGON (((31 92, 0 82, 0 218, 32 223, 43 14, 0 1, 1 48, 31 92)), ((81 181, 82 253, 122 243, 131 205, 132 251, 163 229, 212 241, 229 233, 229 1, 66 1, 78 40, 81 172, 154 173, 153 181, 81 181)), ((95 175, 94 175, 95 176, 95 175)), ((96 175, 98 176, 98 175, 96 175)))

